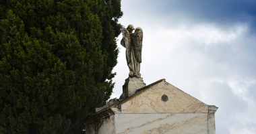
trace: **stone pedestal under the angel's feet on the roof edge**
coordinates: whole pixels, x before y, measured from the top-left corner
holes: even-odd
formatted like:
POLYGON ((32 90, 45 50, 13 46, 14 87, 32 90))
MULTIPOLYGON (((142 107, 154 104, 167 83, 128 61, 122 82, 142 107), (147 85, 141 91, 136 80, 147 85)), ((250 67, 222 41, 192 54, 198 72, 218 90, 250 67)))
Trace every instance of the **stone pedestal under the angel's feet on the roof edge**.
POLYGON ((125 79, 125 84, 123 85, 123 94, 121 94, 120 99, 128 98, 129 96, 135 94, 136 90, 146 86, 143 82, 143 78, 139 77, 128 77, 125 79))

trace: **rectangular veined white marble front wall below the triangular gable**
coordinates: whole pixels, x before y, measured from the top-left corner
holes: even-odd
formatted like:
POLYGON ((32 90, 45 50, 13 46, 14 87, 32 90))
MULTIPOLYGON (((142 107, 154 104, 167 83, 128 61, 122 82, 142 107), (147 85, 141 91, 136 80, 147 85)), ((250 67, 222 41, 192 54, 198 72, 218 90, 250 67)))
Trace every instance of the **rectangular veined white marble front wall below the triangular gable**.
POLYGON ((115 114, 116 134, 215 134, 207 113, 115 114))

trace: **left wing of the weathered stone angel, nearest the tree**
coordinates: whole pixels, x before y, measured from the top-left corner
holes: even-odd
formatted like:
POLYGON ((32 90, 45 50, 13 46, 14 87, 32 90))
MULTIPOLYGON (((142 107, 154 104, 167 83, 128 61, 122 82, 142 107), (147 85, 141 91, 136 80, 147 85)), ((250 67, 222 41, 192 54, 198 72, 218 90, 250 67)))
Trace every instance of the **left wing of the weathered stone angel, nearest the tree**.
POLYGON ((130 50, 131 50, 131 37, 129 34, 129 31, 127 29, 125 29, 125 27, 121 27, 121 31, 123 34, 123 42, 121 40, 121 45, 125 45, 126 48, 126 60, 127 60, 127 64, 129 64, 131 61, 130 59, 130 50))

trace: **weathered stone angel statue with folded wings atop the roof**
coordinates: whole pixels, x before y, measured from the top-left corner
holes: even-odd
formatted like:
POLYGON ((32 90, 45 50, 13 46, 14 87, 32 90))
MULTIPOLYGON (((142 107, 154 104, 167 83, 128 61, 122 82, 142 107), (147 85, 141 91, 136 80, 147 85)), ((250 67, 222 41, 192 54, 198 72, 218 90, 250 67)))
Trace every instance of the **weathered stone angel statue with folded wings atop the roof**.
POLYGON ((139 78, 141 74, 140 63, 141 63, 141 50, 142 50, 142 40, 143 31, 141 27, 137 27, 133 33, 133 25, 128 25, 125 29, 123 26, 121 28, 123 39, 121 40, 121 45, 126 48, 126 60, 127 66, 129 67, 129 77, 139 78))

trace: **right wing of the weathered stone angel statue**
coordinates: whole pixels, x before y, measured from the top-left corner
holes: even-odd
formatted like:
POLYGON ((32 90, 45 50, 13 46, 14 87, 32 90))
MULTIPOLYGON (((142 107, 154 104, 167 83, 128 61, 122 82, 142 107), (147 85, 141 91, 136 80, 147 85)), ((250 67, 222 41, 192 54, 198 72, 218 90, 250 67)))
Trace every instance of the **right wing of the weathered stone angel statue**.
POLYGON ((134 55, 137 62, 141 63, 143 31, 141 27, 137 27, 134 32, 134 55))

